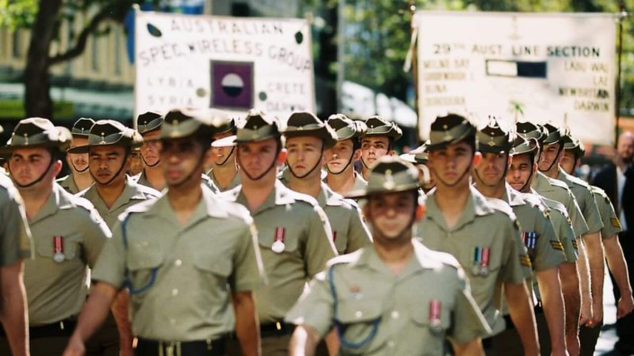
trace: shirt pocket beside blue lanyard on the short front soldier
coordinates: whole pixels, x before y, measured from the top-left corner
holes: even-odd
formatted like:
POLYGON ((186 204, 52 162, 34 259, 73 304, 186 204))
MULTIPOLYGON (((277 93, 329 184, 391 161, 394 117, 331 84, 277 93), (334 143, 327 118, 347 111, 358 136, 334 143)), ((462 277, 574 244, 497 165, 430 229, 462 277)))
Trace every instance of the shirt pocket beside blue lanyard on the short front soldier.
POLYGON ((341 347, 346 355, 375 352, 385 343, 379 332, 382 302, 339 300, 335 320, 339 324, 341 347))

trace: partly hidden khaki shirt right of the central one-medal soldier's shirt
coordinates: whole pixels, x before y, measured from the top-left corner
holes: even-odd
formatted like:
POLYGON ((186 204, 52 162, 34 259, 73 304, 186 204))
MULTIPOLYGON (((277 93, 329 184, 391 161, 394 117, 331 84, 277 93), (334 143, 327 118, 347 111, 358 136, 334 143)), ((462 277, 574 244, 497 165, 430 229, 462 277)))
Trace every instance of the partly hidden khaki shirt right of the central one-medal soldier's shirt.
POLYGON ((353 200, 345 199, 321 183, 317 202, 328 216, 337 253, 351 253, 372 243, 370 231, 361 219, 361 210, 353 200))

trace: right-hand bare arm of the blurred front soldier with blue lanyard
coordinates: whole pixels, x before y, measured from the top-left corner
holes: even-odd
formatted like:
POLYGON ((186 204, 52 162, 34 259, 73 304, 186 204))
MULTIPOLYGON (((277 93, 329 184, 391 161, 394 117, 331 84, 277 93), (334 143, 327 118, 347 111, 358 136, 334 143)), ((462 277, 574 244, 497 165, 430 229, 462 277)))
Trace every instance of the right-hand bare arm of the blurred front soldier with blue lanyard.
POLYGON ((240 340, 242 354, 261 355, 260 323, 257 320, 256 302, 252 291, 231 293, 231 302, 236 315, 236 335, 240 340))

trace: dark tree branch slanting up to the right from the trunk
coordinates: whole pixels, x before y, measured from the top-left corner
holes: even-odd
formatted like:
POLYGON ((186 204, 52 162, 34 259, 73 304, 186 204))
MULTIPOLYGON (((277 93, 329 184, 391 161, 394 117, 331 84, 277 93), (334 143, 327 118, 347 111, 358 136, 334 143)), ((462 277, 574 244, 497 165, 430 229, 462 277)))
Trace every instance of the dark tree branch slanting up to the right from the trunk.
POLYGON ((115 20, 120 20, 122 18, 122 14, 126 13, 127 9, 129 9, 132 5, 132 1, 113 1, 109 6, 104 6, 101 10, 96 13, 96 15, 91 18, 90 22, 84 29, 81 30, 79 36, 77 36, 77 41, 75 41, 75 46, 69 48, 66 52, 56 54, 53 57, 48 58, 48 65, 55 65, 61 63, 63 61, 72 60, 73 58, 79 56, 86 49, 86 42, 88 41, 88 37, 93 34, 104 20, 108 18, 112 18, 115 20), (121 4, 124 3, 124 4, 121 4), (129 6, 126 7, 126 3, 129 3, 129 6))

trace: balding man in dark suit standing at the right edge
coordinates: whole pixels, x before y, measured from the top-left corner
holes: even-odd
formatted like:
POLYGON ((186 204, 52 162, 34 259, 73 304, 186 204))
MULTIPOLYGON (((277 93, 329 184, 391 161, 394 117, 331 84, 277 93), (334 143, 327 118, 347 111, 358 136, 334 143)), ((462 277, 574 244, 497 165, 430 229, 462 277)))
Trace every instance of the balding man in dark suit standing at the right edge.
MULTIPOLYGON (((623 248, 628 270, 634 270, 634 134, 623 132, 617 141, 614 163, 600 170, 592 184, 604 189, 614 204, 623 231, 619 233, 619 243, 623 248)), ((619 221, 614 222, 619 224, 619 221)), ((612 274, 614 300, 621 297, 612 274)), ((630 285, 633 284, 634 273, 630 273, 630 285)), ((614 348, 623 355, 634 353, 634 313, 618 319, 616 334, 619 336, 614 348)))

